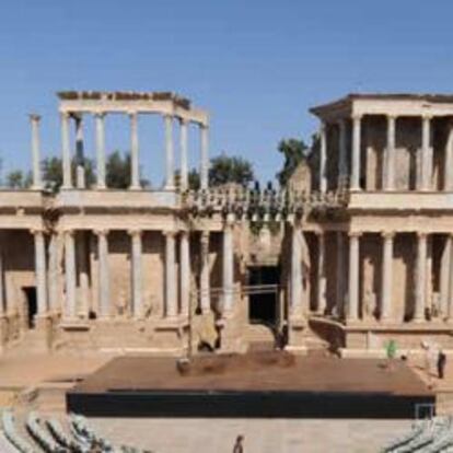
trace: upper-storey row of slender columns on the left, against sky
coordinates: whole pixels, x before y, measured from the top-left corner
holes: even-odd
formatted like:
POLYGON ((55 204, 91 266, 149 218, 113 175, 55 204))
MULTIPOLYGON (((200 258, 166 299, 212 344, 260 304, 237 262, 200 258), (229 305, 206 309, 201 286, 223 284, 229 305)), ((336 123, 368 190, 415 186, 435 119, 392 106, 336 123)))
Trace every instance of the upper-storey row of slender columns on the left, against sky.
MULTIPOLYGON (((95 148, 96 148, 96 188, 105 189, 106 187, 106 149, 105 149, 105 116, 107 113, 94 114, 94 129, 95 129, 95 148)), ((140 156, 139 156, 139 135, 138 135, 138 118, 139 112, 131 112, 129 115, 130 121, 130 189, 138 190, 141 188, 140 184, 140 156)), ((74 120, 76 125, 76 149, 78 158, 83 156, 83 115, 81 113, 61 113, 61 150, 62 150, 62 170, 63 181, 62 188, 73 188, 72 172, 71 172, 71 140, 70 140, 70 119, 74 120)), ((174 121, 179 121, 179 149, 181 149, 181 181, 179 188, 185 190, 188 188, 188 126, 189 120, 186 118, 177 118, 173 115, 165 114, 165 190, 175 189, 175 159, 174 159, 174 121)), ((33 188, 42 189, 40 175, 40 151, 39 151, 39 121, 38 115, 30 115, 32 126, 32 160, 33 160, 33 188)), ((209 138, 208 125, 196 123, 200 129, 200 187, 208 188, 208 172, 209 172, 209 138)), ((85 188, 84 169, 77 166, 77 188, 85 188)))

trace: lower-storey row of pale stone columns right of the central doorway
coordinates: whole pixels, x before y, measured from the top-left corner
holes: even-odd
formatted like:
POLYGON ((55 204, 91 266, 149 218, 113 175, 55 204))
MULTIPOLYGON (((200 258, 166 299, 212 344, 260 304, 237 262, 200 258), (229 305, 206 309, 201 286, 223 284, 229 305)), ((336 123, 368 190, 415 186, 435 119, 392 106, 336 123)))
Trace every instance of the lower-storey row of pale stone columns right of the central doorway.
MULTIPOLYGON (((316 232, 317 236, 317 259, 314 265, 314 277, 316 291, 315 294, 315 309, 314 312, 320 315, 328 313, 336 313, 338 316, 345 318, 348 323, 360 322, 363 313, 363 303, 361 300, 361 242, 363 241, 364 232, 344 232, 344 231, 330 231, 329 233, 336 235, 336 269, 329 278, 335 279, 335 293, 336 300, 327 307, 327 247, 326 247, 326 234, 327 232, 316 232), (345 247, 346 241, 348 241, 348 248, 345 247), (328 309, 328 310, 327 310, 328 309)), ((291 242, 291 269, 289 275, 289 301, 290 301, 290 315, 299 316, 303 312, 307 312, 309 307, 303 306, 304 300, 310 298, 309 294, 303 294, 302 291, 302 278, 304 271, 307 271, 303 267, 301 259, 301 240, 303 232, 300 225, 294 224, 292 228, 292 242, 291 242)), ((380 272, 379 278, 379 322, 400 324, 405 320, 397 318, 395 314, 394 298, 394 244, 396 232, 384 231, 381 233, 381 260, 380 269, 375 268, 375 272, 380 272)), ((438 234, 438 233, 435 233, 438 234)), ((439 272, 439 306, 442 318, 453 320, 453 233, 444 233, 445 245, 442 245, 442 259, 439 262, 440 267, 434 272, 439 272)), ((418 232, 414 234, 415 242, 413 268, 408 269, 409 275, 414 276, 414 284, 411 299, 413 310, 411 320, 413 323, 420 323, 427 321, 426 311, 431 306, 429 301, 430 281, 433 278, 432 270, 432 252, 429 252, 429 245, 432 245, 432 234, 426 232, 418 232)), ((439 235, 439 237, 441 237, 439 235)), ((440 244, 440 243, 439 243, 440 244)), ((430 287, 431 288, 431 287, 430 287)))

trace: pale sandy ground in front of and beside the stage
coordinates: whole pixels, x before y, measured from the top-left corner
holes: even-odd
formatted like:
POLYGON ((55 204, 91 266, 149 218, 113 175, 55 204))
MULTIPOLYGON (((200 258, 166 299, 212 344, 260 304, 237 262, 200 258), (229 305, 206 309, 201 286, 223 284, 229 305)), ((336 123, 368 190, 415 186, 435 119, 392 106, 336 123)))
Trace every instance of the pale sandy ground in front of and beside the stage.
MULTIPOLYGON (((65 390, 111 358, 93 353, 3 356, 0 358, 0 388, 7 394, 11 387, 39 387, 43 397, 31 402, 30 407, 65 417, 65 390)), ((423 369, 414 368, 425 382, 429 381, 423 369)), ((448 363, 445 381, 439 383, 435 378, 431 381, 434 387, 453 390, 453 363, 448 363)), ((26 405, 21 411, 24 409, 26 405)), ((245 437, 245 453, 376 452, 393 438, 406 433, 411 423, 411 420, 173 418, 95 418, 90 421, 115 443, 129 443, 156 453, 231 453, 239 434, 245 437)))

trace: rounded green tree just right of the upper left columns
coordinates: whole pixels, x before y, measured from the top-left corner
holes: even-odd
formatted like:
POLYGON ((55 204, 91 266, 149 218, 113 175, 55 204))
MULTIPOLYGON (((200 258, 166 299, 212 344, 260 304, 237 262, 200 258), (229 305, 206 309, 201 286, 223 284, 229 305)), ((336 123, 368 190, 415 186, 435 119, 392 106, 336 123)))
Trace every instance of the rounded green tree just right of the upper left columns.
POLYGON ((246 186, 254 179, 252 163, 243 158, 220 154, 211 159, 209 167, 210 186, 220 186, 228 183, 246 186))

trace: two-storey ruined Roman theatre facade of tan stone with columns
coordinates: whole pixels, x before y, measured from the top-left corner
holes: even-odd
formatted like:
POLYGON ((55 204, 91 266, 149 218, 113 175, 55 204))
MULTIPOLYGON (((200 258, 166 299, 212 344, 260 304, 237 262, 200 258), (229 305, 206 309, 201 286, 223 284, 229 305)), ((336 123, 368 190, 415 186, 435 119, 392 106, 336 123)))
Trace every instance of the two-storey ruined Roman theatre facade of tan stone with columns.
POLYGON ((57 194, 31 115, 33 184, 0 191, 3 353, 453 348, 453 96, 351 94, 311 112, 317 139, 288 187, 209 187, 206 111, 166 92, 62 92, 57 194), (130 135, 124 190, 106 178, 114 114, 130 135), (162 117, 161 188, 140 181, 144 115, 162 117))

